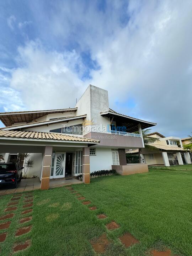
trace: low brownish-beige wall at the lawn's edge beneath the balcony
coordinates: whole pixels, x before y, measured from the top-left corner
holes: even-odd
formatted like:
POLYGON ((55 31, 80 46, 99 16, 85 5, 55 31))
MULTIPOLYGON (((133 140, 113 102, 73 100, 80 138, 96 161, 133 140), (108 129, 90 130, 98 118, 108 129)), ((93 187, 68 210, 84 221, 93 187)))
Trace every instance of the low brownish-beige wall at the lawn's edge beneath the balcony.
POLYGON ((117 173, 123 176, 149 172, 147 164, 112 165, 112 169, 116 169, 117 173))

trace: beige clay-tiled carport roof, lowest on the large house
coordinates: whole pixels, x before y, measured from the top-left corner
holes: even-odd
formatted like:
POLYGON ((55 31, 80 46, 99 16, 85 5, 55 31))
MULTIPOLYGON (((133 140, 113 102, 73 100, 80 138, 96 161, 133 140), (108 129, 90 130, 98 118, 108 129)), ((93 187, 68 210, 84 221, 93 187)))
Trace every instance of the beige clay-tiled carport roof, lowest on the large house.
POLYGON ((42 139, 42 140, 59 140, 59 141, 74 141, 74 142, 95 142, 99 143, 100 140, 88 139, 84 137, 64 135, 60 133, 44 133, 44 132, 31 132, 31 131, 20 131, 20 130, 0 130, 0 139, 5 138, 23 138, 23 139, 42 139))

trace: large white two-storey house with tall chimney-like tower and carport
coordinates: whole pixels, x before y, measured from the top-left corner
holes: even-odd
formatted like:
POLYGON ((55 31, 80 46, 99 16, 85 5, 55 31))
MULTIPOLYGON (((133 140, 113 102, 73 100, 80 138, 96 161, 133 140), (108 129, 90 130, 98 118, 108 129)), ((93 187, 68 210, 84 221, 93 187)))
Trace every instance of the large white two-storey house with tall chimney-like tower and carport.
POLYGON ((42 189, 52 178, 82 174, 89 183, 90 172, 128 168, 126 150, 143 148, 142 129, 156 125, 111 110, 108 92, 93 85, 74 108, 6 112, 0 119, 5 125, 0 129, 5 161, 29 153, 34 165, 27 177, 38 176, 42 189))

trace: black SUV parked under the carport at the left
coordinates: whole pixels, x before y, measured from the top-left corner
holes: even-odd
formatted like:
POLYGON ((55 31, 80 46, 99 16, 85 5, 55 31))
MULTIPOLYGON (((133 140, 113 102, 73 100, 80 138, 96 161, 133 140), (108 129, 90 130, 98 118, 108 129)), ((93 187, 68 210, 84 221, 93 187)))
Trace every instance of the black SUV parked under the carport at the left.
POLYGON ((21 181, 22 169, 17 163, 0 163, 0 185, 11 185, 17 187, 17 182, 21 181))

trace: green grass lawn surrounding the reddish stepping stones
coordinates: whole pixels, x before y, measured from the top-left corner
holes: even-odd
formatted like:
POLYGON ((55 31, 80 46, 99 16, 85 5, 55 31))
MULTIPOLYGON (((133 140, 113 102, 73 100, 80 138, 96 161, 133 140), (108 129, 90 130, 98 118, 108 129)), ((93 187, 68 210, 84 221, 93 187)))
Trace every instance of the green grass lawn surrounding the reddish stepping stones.
MULTIPOLYGON (((21 225, 21 200, 7 230, 9 235, 0 244, 0 255, 10 256, 15 241, 32 239, 29 249, 14 255, 94 256, 90 240, 106 233, 111 244, 105 256, 144 256, 149 255, 150 249, 164 246, 172 250, 172 255, 191 256, 191 181, 190 171, 155 169, 146 174, 106 176, 91 179, 88 185, 73 185, 92 202, 91 206, 97 207, 95 211, 82 205, 64 187, 34 191, 31 232, 14 238, 21 225), (98 220, 99 213, 108 218, 98 220), (120 228, 107 231, 105 224, 112 220, 120 228), (126 249, 118 239, 125 232, 134 235, 139 244, 126 249)), ((10 198, 11 195, 0 198, 0 214, 10 198)))

